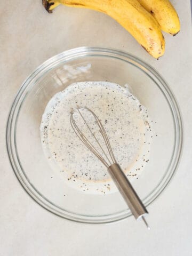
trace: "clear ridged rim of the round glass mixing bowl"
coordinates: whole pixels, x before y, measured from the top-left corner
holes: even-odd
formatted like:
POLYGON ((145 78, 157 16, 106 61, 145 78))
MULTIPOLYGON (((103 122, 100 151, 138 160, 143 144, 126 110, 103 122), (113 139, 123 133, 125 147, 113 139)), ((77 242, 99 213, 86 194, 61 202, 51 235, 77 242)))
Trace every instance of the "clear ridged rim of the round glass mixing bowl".
POLYGON ((12 169, 18 178, 22 187, 26 190, 27 194, 30 195, 39 205, 44 207, 44 209, 62 217, 65 219, 77 221, 77 222, 84 222, 84 223, 108 223, 114 222, 118 220, 125 219, 132 214, 129 213, 127 210, 116 212, 113 214, 107 215, 83 215, 83 214, 76 214, 69 212, 67 210, 63 210, 57 205, 52 204, 49 199, 45 198, 43 195, 38 193, 35 187, 30 183, 29 179, 23 172, 19 155, 17 153, 17 143, 16 143, 16 134, 17 134, 17 120, 19 117, 20 107, 22 102, 25 100, 28 92, 30 91, 29 85, 32 85, 38 79, 45 74, 45 72, 49 71, 50 68, 54 68, 58 65, 58 63, 62 61, 70 61, 72 59, 77 58, 86 58, 86 57, 111 57, 116 58, 122 61, 126 61, 131 65, 136 66, 141 71, 145 72, 154 83, 159 87, 161 84, 161 88, 159 89, 164 94, 164 97, 169 104, 173 122, 174 122, 174 149, 172 153, 172 157, 170 160, 170 164, 167 167, 167 172, 165 173, 164 177, 158 182, 158 185, 151 191, 151 193, 143 199, 143 203, 146 207, 155 201, 155 199, 162 194, 163 190, 167 187, 170 183, 173 175, 175 174, 180 158, 182 153, 182 145, 183 145, 183 125, 182 125, 182 118, 180 109, 177 103, 177 100, 174 97, 173 92, 171 91, 170 87, 167 85, 165 80, 159 75, 159 73, 150 65, 148 65, 145 61, 135 57, 134 55, 127 53, 125 51, 112 49, 112 48, 105 48, 105 47, 77 47, 75 49, 63 51, 50 59, 46 60, 42 63, 42 65, 38 66, 36 70, 29 75, 26 80, 22 83, 18 93, 15 96, 15 99, 12 103, 10 113, 7 119, 6 124, 6 148, 7 154, 9 156, 9 160, 12 166, 12 169), (159 83, 159 84, 158 84, 159 83), (40 197, 39 197, 40 196, 40 197), (149 197, 149 198, 148 198, 149 197))

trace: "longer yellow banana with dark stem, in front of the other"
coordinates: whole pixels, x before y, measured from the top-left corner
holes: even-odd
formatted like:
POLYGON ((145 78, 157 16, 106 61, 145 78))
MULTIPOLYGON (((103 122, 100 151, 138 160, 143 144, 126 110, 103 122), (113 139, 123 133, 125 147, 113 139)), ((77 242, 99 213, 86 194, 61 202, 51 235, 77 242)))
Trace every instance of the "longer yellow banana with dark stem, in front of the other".
POLYGON ((47 11, 52 11, 61 3, 106 13, 129 31, 154 58, 158 59, 164 54, 165 40, 161 28, 156 19, 137 0, 43 0, 43 2, 47 11))

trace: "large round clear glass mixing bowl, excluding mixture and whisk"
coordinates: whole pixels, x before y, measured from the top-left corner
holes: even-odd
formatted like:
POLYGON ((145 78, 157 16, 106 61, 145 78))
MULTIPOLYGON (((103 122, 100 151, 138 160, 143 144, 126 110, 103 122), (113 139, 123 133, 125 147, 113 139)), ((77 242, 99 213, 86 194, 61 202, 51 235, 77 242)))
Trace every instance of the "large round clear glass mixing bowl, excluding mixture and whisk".
POLYGON ((83 194, 66 186, 43 154, 39 126, 47 102, 74 82, 109 81, 129 84, 149 110, 158 136, 150 161, 133 182, 148 206, 164 190, 177 169, 182 148, 181 115, 164 79, 147 63, 118 50, 80 47, 45 61, 22 84, 7 121, 6 143, 10 162, 27 193, 60 217, 91 223, 120 220, 131 215, 118 193, 83 194))

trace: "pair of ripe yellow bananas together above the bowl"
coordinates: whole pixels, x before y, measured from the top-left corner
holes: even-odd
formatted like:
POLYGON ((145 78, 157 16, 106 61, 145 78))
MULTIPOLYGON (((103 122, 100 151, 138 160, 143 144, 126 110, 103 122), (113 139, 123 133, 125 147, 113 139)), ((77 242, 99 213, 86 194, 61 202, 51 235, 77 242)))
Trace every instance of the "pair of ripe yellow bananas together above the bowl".
POLYGON ((165 51, 161 30, 173 36, 180 30, 178 14, 169 0, 43 0, 50 13, 59 4, 108 14, 156 59, 165 51))

